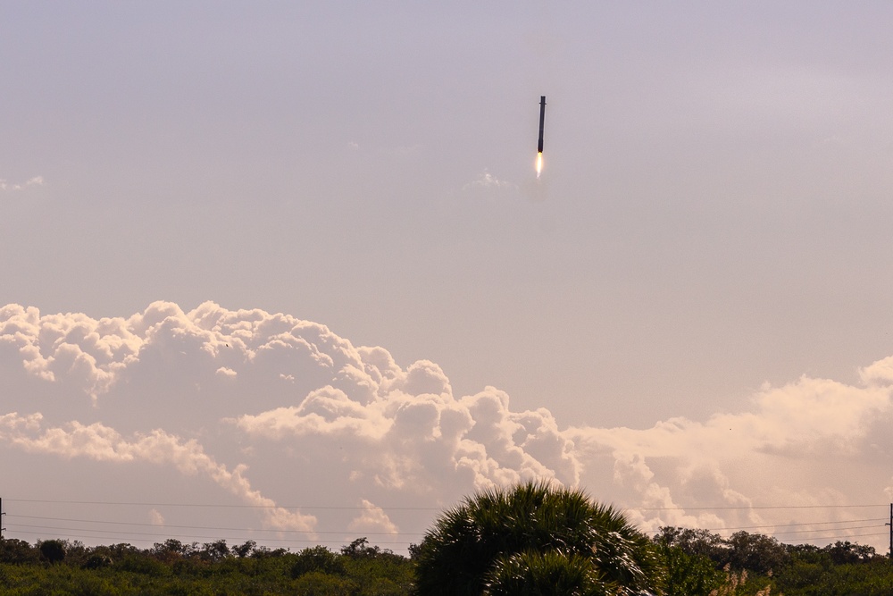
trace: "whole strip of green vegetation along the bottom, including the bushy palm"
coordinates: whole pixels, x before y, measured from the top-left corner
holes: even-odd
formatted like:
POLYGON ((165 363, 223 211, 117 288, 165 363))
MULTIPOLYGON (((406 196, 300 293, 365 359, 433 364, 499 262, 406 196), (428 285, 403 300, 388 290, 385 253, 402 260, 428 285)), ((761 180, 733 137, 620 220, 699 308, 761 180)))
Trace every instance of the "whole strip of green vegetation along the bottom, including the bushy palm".
POLYGON ((528 483, 438 517, 410 557, 359 538, 338 551, 169 539, 141 550, 0 539, 0 595, 888 596, 893 562, 870 546, 781 543, 664 527, 647 539, 579 491, 528 483), (645 592, 647 591, 647 592, 645 592))

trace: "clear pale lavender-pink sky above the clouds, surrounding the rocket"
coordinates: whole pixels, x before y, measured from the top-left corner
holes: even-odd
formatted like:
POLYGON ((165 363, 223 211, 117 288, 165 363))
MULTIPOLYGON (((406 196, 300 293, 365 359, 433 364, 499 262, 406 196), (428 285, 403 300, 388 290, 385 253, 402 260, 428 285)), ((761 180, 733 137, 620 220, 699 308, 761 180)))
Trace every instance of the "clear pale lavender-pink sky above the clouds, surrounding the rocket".
POLYGON ((893 354, 891 22, 4 2, 0 305, 283 312, 562 428, 857 384, 893 354))

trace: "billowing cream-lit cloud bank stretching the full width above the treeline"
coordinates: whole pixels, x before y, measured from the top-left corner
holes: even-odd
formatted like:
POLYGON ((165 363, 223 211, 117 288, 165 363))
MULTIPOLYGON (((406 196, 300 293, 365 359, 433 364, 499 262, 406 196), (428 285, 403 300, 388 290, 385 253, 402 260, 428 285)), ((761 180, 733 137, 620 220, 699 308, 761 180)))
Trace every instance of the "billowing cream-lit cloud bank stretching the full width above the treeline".
MULTIPOLYGON (((802 377, 701 421, 579 427, 546 408, 513 411, 493 387, 455 396, 432 362, 403 368, 289 315, 156 302, 94 319, 7 305, 0 375, 0 445, 29 466, 98 462, 109 483, 138 463, 203 478, 207 502, 229 495, 258 508, 263 528, 311 537, 423 532, 436 511, 420 505, 538 478, 627 508, 647 530, 813 521, 827 532, 819 522, 865 516, 840 506, 893 499, 893 357, 855 385, 802 377), (294 507, 308 503, 342 507, 294 507)), ((822 541, 781 537, 811 536, 822 541)))

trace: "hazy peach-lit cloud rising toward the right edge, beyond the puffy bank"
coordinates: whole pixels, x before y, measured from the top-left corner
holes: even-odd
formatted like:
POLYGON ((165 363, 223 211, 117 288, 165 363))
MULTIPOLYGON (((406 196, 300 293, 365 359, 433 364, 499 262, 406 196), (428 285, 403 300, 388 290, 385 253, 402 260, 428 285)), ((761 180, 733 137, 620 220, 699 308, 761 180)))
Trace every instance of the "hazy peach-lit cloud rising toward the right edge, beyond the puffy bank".
POLYGON ((641 504, 638 518, 650 529, 680 523, 722 528, 768 524, 780 515, 763 506, 879 502, 884 481, 847 486, 847 468, 874 459, 884 477, 870 437, 872 428, 889 421, 888 389, 802 377, 764 387, 748 411, 704 422, 674 418, 644 430, 574 428, 566 436, 590 467, 608 460, 614 487, 625 501, 641 504), (722 507, 738 509, 722 519, 721 509, 697 513, 722 507), (659 513, 649 516, 646 509, 659 513))

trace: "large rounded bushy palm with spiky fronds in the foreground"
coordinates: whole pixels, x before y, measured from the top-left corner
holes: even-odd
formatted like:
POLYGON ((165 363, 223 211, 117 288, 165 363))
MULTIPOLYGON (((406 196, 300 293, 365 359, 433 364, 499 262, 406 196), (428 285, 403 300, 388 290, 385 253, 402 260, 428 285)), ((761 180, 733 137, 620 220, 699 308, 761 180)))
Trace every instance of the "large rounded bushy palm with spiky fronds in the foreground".
POLYGON ((523 483, 438 518, 419 549, 416 594, 635 594, 652 584, 655 560, 615 509, 581 491, 523 483), (546 589, 559 580, 562 590, 546 589))

